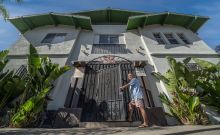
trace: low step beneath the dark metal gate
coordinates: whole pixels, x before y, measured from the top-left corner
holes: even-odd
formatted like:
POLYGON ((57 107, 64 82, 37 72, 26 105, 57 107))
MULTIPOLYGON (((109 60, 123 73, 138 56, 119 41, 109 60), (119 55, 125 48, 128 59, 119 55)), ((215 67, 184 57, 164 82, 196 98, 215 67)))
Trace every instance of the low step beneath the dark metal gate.
POLYGON ((127 121, 114 121, 114 122, 80 122, 81 128, 106 128, 106 127, 137 127, 141 121, 127 122, 127 121))

